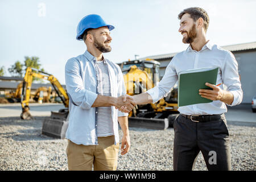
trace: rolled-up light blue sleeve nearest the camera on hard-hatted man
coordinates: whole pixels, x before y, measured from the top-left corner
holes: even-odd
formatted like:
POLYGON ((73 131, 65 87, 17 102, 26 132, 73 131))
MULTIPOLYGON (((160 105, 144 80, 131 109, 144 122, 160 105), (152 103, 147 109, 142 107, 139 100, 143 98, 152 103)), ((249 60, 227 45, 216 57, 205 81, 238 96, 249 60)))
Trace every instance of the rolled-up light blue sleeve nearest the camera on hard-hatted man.
POLYGON ((97 93, 84 88, 80 75, 80 64, 74 58, 69 59, 65 65, 65 83, 72 103, 81 109, 90 109, 97 98, 97 93))

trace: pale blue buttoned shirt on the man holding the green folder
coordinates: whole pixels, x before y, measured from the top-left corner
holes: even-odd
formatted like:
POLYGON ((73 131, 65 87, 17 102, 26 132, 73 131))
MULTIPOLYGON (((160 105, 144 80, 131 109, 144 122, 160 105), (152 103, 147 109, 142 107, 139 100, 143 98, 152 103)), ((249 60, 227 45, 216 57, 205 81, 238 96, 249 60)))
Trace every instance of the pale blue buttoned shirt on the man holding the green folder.
MULTIPOLYGON (((227 87, 227 90, 234 96, 230 106, 240 104, 243 98, 240 77, 238 75, 238 65, 234 55, 216 44, 208 42, 200 51, 195 51, 189 45, 187 50, 177 53, 166 68, 162 80, 154 88, 147 90, 152 97, 153 102, 157 102, 166 97, 172 86, 178 80, 181 71, 187 69, 218 67, 217 84, 221 82, 227 87)), ((223 84, 220 85, 223 89, 223 84)), ((194 104, 179 107, 181 114, 222 114, 227 111, 226 105, 221 101, 213 101, 207 104, 194 104)))

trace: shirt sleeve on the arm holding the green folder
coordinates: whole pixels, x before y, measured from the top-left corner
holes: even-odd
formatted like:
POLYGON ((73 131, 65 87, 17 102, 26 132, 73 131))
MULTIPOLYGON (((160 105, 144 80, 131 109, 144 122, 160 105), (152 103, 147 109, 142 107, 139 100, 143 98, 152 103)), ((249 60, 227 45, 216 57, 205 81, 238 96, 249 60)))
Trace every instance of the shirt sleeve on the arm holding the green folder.
POLYGON ((234 96, 234 100, 229 106, 240 104, 243 99, 243 91, 241 88, 240 76, 238 75, 238 64, 233 53, 230 51, 228 51, 225 57, 222 80, 227 86, 228 91, 234 96))

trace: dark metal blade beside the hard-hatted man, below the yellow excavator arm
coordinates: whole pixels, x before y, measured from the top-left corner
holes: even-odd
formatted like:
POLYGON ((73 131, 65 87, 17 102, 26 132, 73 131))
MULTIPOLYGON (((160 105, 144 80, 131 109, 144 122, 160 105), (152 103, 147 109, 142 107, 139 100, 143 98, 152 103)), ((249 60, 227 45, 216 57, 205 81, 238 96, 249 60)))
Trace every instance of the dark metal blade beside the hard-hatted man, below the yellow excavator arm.
POLYGON ((42 134, 53 138, 65 138, 68 129, 68 110, 51 111, 51 117, 44 119, 42 134))

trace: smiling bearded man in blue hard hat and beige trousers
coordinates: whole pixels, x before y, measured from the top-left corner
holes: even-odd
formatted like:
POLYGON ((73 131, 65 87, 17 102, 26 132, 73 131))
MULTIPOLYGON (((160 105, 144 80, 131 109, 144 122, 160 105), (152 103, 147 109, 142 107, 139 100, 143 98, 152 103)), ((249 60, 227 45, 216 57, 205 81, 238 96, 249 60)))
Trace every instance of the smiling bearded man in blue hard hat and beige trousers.
POLYGON ((84 40, 84 54, 69 59, 65 82, 69 96, 67 156, 69 170, 115 170, 119 151, 118 122, 123 131, 121 155, 130 148, 127 113, 134 107, 126 94, 122 71, 105 59, 110 52, 114 27, 99 15, 82 18, 77 26, 77 40, 84 40), (123 112, 118 111, 122 105, 123 112))

